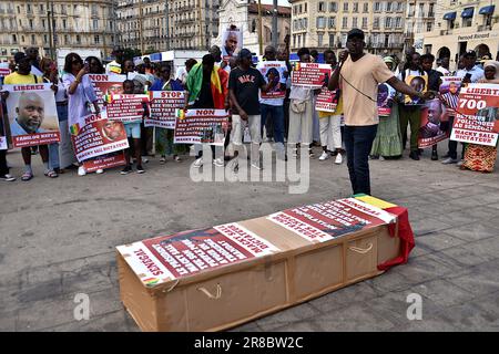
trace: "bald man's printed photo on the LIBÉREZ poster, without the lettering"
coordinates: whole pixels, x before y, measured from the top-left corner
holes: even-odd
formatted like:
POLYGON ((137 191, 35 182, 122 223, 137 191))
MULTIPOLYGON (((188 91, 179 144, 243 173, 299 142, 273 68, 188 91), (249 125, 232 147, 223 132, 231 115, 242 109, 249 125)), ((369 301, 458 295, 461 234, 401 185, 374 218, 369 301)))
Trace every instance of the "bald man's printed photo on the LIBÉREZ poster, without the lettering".
POLYGON ((45 107, 39 94, 22 93, 16 107, 17 117, 10 125, 12 136, 45 133, 41 125, 45 115, 45 107))

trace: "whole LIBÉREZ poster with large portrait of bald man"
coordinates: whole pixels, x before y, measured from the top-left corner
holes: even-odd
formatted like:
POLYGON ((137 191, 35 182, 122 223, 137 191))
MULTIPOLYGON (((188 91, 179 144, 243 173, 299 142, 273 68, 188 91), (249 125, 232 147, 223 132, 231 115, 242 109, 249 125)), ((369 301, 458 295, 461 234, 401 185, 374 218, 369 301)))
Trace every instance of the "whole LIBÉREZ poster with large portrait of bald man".
POLYGON ((50 84, 3 85, 13 147, 60 142, 55 96, 50 84))

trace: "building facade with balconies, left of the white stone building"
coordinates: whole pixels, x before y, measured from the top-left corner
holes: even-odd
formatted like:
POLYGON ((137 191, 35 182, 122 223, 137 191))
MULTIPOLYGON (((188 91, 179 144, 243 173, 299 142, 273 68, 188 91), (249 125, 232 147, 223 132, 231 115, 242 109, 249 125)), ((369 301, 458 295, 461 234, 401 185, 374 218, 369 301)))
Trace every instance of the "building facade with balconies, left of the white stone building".
POLYGON ((218 0, 118 0, 118 41, 145 52, 205 50, 218 35, 218 0))

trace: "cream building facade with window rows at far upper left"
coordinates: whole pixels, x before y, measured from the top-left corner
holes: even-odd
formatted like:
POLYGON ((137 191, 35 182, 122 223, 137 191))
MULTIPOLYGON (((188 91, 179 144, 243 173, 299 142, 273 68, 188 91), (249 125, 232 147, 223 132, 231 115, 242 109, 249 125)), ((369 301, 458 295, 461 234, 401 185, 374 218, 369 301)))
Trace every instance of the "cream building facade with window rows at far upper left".
POLYGON ((114 45, 114 1, 0 1, 0 60, 28 46, 50 56, 49 12, 54 48, 100 49, 106 58, 114 45))

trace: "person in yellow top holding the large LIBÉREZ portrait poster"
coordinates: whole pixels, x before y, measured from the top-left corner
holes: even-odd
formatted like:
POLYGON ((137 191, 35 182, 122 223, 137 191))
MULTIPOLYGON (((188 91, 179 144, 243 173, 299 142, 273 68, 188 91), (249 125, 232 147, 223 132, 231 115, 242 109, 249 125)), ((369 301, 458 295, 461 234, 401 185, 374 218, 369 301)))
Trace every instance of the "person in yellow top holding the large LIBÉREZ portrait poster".
MULTIPOLYGON (((31 74, 31 63, 29 58, 24 54, 16 55, 16 63, 18 64, 18 71, 13 72, 10 75, 7 75, 3 84, 6 85, 26 85, 26 84, 37 84, 43 83, 43 79, 41 76, 37 76, 31 74)), ((7 100, 9 96, 9 92, 3 92, 2 97, 7 100)), ((27 132, 29 134, 30 132, 27 132)), ((40 156, 43 162, 43 166, 45 168, 44 175, 51 178, 58 177, 58 174, 54 170, 49 168, 49 147, 47 145, 39 146, 40 156)), ((22 147, 22 159, 24 160, 24 174, 22 175, 22 180, 30 180, 33 178, 33 170, 31 168, 31 148, 22 147)))

